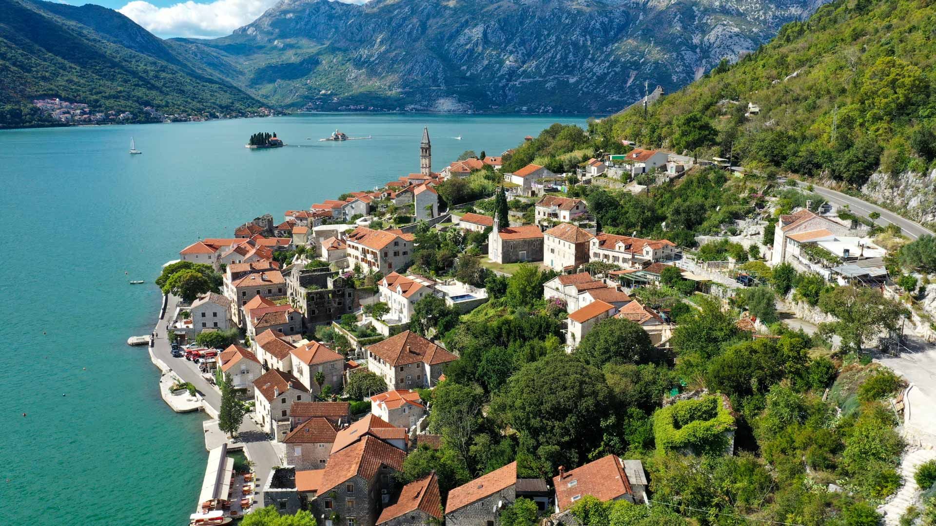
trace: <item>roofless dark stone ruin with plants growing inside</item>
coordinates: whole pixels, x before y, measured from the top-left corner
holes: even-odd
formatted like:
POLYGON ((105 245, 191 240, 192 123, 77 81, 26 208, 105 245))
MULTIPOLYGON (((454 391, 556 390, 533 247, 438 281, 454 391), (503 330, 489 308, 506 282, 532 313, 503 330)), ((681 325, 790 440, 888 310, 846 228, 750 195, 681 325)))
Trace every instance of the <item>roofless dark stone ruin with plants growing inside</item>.
POLYGON ((357 309, 358 293, 353 283, 334 270, 306 270, 297 265, 286 274, 285 282, 289 302, 302 314, 304 329, 329 323, 357 309))

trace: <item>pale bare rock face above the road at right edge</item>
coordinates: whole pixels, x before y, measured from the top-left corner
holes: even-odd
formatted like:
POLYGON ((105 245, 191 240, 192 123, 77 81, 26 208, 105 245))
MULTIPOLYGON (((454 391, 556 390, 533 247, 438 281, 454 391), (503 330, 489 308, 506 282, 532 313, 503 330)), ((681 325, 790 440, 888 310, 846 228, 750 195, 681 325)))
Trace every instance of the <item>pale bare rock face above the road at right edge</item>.
POLYGON ((897 177, 874 173, 861 191, 879 203, 905 210, 901 215, 918 223, 936 223, 936 169, 897 177))

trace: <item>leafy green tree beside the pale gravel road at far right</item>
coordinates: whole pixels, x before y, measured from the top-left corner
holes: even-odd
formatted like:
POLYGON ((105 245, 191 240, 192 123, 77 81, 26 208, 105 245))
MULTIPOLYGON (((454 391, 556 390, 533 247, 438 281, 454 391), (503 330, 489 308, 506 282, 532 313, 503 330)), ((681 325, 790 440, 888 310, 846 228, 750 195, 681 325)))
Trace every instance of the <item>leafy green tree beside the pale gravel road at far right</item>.
POLYGON ((878 333, 897 329, 901 316, 909 314, 903 305, 885 298, 877 289, 850 285, 823 294, 819 308, 838 318, 821 324, 820 332, 826 336, 838 334, 841 346, 853 351, 860 350, 878 333))

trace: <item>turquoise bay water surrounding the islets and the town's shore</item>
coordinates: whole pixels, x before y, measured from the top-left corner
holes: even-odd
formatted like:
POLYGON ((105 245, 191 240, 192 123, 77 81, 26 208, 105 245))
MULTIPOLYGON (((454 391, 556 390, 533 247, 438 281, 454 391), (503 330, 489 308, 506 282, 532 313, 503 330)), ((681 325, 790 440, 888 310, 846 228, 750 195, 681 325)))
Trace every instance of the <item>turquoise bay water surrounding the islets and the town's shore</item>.
POLYGON ((418 171, 424 124, 440 169, 556 121, 584 124, 307 114, 0 132, 0 524, 176 525, 194 510, 204 416, 173 413, 145 349, 125 344, 152 330, 153 280, 183 246, 418 171), (306 140, 336 127, 373 139, 306 140), (244 148, 257 131, 289 146, 244 148), (142 155, 126 153, 131 136, 142 155))

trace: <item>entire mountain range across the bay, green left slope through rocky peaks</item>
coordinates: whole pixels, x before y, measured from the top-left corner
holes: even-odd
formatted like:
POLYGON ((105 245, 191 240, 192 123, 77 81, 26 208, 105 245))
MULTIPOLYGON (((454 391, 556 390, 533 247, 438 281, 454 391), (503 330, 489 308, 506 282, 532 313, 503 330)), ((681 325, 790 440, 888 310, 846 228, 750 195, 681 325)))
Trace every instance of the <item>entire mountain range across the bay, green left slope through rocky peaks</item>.
POLYGON ((622 109, 767 42, 818 0, 284 0, 228 37, 161 39, 94 5, 0 0, 0 124, 97 110, 622 109))

